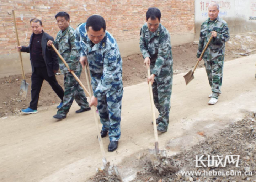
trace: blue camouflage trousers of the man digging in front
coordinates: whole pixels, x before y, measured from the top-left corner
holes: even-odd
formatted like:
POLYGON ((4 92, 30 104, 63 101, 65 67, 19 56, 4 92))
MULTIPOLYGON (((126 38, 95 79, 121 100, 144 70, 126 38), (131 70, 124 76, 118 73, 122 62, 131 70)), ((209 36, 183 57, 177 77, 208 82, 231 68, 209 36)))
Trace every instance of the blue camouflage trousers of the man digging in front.
MULTIPOLYGON (((92 86, 93 90, 96 85, 92 86)), ((118 141, 121 135, 121 106, 123 97, 123 84, 115 82, 110 91, 98 97, 98 112, 103 124, 102 131, 108 131, 110 141, 118 141)))

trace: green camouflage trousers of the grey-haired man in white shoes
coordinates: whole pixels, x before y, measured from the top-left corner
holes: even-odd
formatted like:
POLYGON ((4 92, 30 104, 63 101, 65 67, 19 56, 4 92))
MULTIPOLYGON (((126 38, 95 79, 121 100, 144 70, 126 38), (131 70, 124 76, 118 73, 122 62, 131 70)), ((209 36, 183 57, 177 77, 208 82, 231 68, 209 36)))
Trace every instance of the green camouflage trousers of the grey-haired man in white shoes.
POLYGON ((220 56, 220 59, 214 61, 204 61, 209 84, 212 88, 212 98, 218 99, 218 96, 221 93, 220 88, 222 86, 223 64, 224 60, 222 59, 222 56, 220 56))

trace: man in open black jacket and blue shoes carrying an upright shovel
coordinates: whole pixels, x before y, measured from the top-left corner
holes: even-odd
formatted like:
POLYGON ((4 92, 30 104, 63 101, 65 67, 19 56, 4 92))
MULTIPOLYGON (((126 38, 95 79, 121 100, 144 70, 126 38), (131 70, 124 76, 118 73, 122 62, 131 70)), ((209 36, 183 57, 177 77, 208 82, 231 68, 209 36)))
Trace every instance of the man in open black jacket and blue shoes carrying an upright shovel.
MULTIPOLYGON (((58 55, 54 50, 47 49, 47 41, 54 41, 54 39, 43 31, 41 20, 34 18, 30 20, 30 25, 33 33, 30 37, 29 46, 17 47, 18 51, 30 53, 32 66, 31 102, 27 109, 22 110, 25 114, 35 114, 38 112, 39 93, 44 80, 50 84, 62 101, 64 97, 64 91, 55 77, 55 73, 59 70, 58 55)), ((62 106, 62 101, 57 108, 62 106)))

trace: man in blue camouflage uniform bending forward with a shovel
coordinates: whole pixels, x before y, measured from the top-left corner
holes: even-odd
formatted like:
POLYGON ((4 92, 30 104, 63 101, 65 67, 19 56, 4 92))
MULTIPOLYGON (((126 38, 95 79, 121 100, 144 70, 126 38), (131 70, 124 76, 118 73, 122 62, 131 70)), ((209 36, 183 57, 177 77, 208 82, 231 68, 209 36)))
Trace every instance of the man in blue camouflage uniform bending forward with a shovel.
POLYGON ((123 97, 122 59, 114 37, 106 30, 103 17, 93 15, 80 24, 75 34, 75 44, 80 53, 80 63, 89 65, 95 105, 103 124, 101 137, 109 133, 108 151, 117 149, 120 139, 121 101, 123 97))

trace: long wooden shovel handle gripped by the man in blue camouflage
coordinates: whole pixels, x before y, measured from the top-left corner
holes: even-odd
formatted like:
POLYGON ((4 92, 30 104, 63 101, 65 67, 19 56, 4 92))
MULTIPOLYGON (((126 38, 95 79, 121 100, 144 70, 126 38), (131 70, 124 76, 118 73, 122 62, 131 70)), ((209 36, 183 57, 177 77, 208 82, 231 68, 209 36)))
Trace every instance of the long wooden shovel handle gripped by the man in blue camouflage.
MULTIPOLYGON (((87 85, 88 85, 89 92, 90 92, 90 97, 92 97, 93 93, 92 93, 91 83, 90 83, 90 79, 89 79, 88 68, 87 68, 86 65, 85 65, 85 76, 86 76, 86 81, 87 81, 87 85)), ((102 154, 102 157, 103 157, 102 160, 103 160, 103 163, 104 163, 107 160, 106 160, 106 157, 105 157, 105 150, 104 150, 103 143, 102 143, 102 138, 101 138, 101 134, 100 134, 100 126, 98 124, 98 118, 97 118, 96 107, 95 106, 92 106, 92 111, 94 113, 94 121, 95 121, 95 125, 96 125, 96 130, 97 130, 98 140, 99 140, 99 144, 100 144, 101 154, 102 154)))

